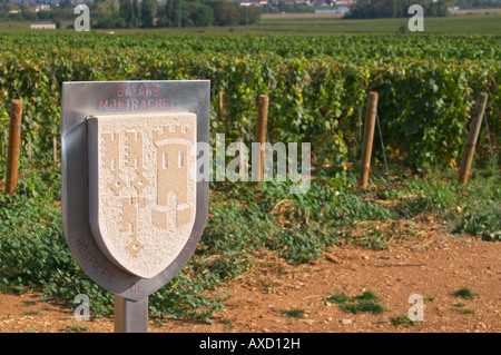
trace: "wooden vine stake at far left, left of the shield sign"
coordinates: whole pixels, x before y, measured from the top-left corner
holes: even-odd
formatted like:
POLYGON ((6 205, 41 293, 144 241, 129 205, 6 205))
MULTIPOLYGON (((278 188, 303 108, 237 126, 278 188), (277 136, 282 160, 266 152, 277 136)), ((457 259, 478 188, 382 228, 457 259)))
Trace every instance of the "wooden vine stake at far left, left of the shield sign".
POLYGON ((22 101, 13 99, 10 106, 9 147, 4 194, 14 195, 18 185, 19 146, 21 141, 22 101))

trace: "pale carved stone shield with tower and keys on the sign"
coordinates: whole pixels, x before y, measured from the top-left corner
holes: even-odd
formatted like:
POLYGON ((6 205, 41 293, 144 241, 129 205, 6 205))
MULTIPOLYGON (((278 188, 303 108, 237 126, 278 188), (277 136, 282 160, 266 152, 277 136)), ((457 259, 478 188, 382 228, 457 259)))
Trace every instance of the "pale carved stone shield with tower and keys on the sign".
POLYGON ((89 135, 98 146, 89 156, 98 159, 90 181, 98 245, 126 270, 153 277, 178 255, 195 220, 196 115, 95 116, 89 135))

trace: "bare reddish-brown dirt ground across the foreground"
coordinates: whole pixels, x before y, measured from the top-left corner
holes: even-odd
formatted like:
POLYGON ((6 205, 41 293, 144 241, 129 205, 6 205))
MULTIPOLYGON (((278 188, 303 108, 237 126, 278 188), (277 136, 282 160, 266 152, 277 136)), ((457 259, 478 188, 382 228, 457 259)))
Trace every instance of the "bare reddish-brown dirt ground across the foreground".
MULTIPOLYGON (((233 295, 214 324, 150 322, 149 332, 501 332, 501 243, 480 237, 432 234, 399 241, 386 250, 348 245, 325 253, 318 262, 288 265, 262 255, 249 273, 225 290, 233 295), (468 287, 471 299, 453 296, 468 287), (382 314, 350 314, 325 298, 336 292, 379 296, 382 314), (422 322, 405 327, 391 319, 407 314, 407 300, 422 295, 422 322), (283 316, 302 309, 303 317, 283 316)), ((47 304, 38 295, 0 295, 0 332, 78 332, 72 309, 47 304)), ((112 318, 86 322, 87 332, 112 332, 112 318)))

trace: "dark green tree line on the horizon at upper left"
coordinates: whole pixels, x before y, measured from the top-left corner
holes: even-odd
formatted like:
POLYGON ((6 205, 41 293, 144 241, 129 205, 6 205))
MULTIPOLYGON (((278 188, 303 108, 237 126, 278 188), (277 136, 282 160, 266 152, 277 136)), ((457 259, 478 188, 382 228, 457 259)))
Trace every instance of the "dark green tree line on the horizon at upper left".
MULTIPOLYGON (((0 0, 4 1, 4 0, 0 0)), ((240 7, 233 0, 95 0, 86 3, 90 10, 91 28, 155 28, 207 27, 253 24, 259 21, 262 10, 240 7)), ((75 20, 70 0, 62 0, 59 8, 33 12, 26 4, 0 3, 0 20, 50 21, 75 20), (19 9, 18 13, 9 10, 19 9)), ((70 24, 72 26, 72 24, 70 24)))

